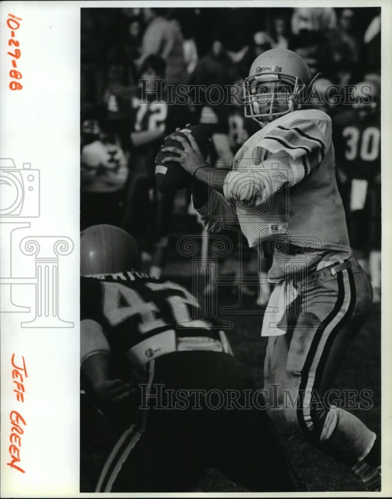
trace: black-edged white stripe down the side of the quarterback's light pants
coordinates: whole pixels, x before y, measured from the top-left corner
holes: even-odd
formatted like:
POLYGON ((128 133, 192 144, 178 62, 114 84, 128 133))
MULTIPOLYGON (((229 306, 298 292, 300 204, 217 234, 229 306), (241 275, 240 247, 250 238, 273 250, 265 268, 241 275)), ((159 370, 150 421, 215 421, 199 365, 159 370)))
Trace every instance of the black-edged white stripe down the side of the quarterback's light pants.
MULTIPOLYGON (((318 329, 313 337, 308 355, 306 357, 306 360, 305 360, 305 363, 304 363, 304 366, 303 366, 302 372, 301 372, 301 383, 300 383, 300 387, 299 387, 299 398, 298 398, 298 403, 297 403, 297 419, 298 419, 298 423, 299 423, 300 427, 302 428, 302 431, 305 434, 308 433, 313 427, 313 423, 310 420, 310 417, 305 418, 305 414, 304 414, 305 392, 309 393, 309 388, 307 389, 307 386, 308 386, 308 382, 309 382, 311 367, 312 367, 314 358, 316 356, 319 343, 322 340, 323 334, 325 334, 326 331, 328 331, 328 334, 329 334, 330 330, 334 327, 335 320, 336 320, 337 316, 339 316, 339 312, 341 311, 342 306, 345 302, 345 285, 344 285, 342 272, 339 272, 337 274, 337 279, 338 279, 338 296, 337 296, 335 306, 334 306, 333 310, 331 311, 331 313, 326 317, 326 319, 319 325, 319 327, 318 327, 318 329), (330 324, 332 324, 331 327, 330 327, 330 324), (309 427, 309 426, 311 426, 311 427, 309 427)), ((313 385, 313 383, 311 383, 311 384, 313 385)))

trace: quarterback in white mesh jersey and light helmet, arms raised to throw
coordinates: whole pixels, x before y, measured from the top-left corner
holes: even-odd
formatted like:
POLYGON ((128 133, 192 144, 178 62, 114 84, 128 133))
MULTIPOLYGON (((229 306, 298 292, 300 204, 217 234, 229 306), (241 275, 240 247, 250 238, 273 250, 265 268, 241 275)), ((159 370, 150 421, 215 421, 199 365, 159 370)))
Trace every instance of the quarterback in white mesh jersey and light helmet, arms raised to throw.
POLYGON ((379 490, 376 434, 328 400, 312 404, 331 388, 372 305, 371 284, 351 252, 331 118, 305 107, 315 78, 297 53, 264 52, 244 82, 245 115, 261 129, 237 152, 233 169, 206 164, 191 134, 174 136, 184 150, 163 148, 178 155, 164 161, 177 161, 193 177, 193 203, 207 230, 235 217, 249 246, 272 256, 268 275, 276 285, 262 335, 270 336, 265 389, 273 396, 271 388, 280 387, 278 407, 269 409, 277 428, 302 433, 379 490))

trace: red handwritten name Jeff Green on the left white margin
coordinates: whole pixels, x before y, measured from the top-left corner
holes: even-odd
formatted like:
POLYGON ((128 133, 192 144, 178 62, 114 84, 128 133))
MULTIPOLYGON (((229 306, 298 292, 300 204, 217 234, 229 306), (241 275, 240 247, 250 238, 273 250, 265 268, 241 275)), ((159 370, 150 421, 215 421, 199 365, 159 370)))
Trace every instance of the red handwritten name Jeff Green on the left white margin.
MULTIPOLYGON (((16 400, 18 402, 24 402, 23 379, 28 377, 26 363, 24 362, 24 357, 22 356, 21 362, 16 363, 15 354, 13 353, 11 357, 11 364, 13 367, 12 383, 16 385, 16 389, 13 390, 16 393, 16 400)), ((14 470, 24 473, 24 470, 20 468, 20 466, 17 466, 15 463, 20 463, 20 456, 19 456, 19 451, 21 446, 20 435, 23 435, 24 433, 24 430, 21 427, 21 425, 23 424, 24 426, 26 426, 26 422, 17 411, 11 411, 9 413, 9 421, 11 423, 11 433, 9 435, 9 442, 11 443, 11 445, 8 446, 10 462, 7 463, 7 466, 10 466, 14 470)))

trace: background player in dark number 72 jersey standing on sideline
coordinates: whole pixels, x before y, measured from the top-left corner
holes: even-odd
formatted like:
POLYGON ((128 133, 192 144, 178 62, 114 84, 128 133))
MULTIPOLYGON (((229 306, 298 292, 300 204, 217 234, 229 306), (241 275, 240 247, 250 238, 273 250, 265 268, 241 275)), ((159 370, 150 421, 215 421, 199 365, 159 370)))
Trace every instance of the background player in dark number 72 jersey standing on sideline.
POLYGON ((140 69, 139 87, 131 95, 130 174, 121 224, 138 240, 143 260, 151 261, 150 271, 157 276, 165 263, 173 204, 173 196, 159 193, 154 182, 154 160, 172 107, 167 104, 163 85, 165 69, 162 57, 146 57, 140 69), (140 213, 145 216, 140 217, 140 213))

